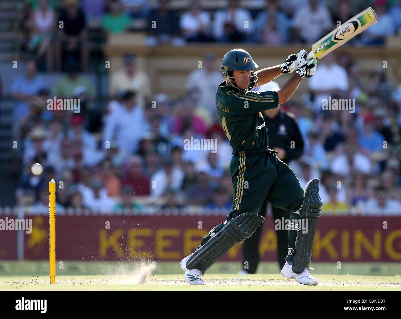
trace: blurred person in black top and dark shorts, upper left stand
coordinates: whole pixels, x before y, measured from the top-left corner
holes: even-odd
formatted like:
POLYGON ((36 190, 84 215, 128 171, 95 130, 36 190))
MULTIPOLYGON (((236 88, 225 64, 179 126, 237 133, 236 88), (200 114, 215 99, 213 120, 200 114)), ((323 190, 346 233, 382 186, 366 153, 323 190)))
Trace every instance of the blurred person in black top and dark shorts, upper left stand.
POLYGON ((62 70, 63 55, 75 57, 80 53, 81 70, 87 72, 89 61, 87 25, 78 0, 65 0, 57 21, 63 21, 63 28, 57 28, 56 71, 62 70))

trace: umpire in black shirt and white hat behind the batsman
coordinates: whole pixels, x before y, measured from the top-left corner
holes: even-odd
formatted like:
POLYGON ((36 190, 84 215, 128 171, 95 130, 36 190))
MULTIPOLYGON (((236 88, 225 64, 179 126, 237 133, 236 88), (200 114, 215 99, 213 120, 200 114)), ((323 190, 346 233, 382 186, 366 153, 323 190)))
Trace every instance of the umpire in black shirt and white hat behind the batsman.
MULTIPOLYGON (((261 87, 263 91, 276 91, 279 86, 272 81, 261 87), (269 85, 269 87, 265 87, 269 85)), ((282 110, 281 106, 262 112, 266 124, 267 134, 269 135, 269 147, 277 152, 277 157, 284 163, 296 160, 302 155, 304 140, 296 123, 294 114, 282 110)), ((259 215, 265 217, 267 201, 263 201, 259 215)), ((271 206, 273 220, 290 219, 291 212, 286 209, 271 206)), ((259 226, 250 238, 243 243, 243 271, 254 274, 260 260, 259 242, 263 225, 259 226)), ((277 257, 280 269, 286 263, 288 252, 288 230, 276 229, 277 235, 277 257)))

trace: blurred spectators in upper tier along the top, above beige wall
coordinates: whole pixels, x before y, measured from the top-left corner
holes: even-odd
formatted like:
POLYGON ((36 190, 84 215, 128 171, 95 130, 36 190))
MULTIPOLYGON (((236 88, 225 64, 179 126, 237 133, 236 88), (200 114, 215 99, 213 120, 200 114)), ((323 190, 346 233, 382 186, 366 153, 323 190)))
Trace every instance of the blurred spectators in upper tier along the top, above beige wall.
POLYGON ((401 26, 399 0, 25 0, 19 14, 23 49, 46 60, 47 71, 61 71, 63 55, 80 52, 88 70, 93 43, 91 28, 107 35, 135 30, 146 33, 146 45, 192 42, 315 43, 335 26, 367 6, 374 6, 378 22, 352 39, 355 45, 384 45, 401 26), (151 1, 152 2, 152 1, 151 1), (184 5, 183 5, 184 4, 184 5), (173 8, 173 9, 172 9, 173 8), (139 22, 139 23, 138 23, 139 22))

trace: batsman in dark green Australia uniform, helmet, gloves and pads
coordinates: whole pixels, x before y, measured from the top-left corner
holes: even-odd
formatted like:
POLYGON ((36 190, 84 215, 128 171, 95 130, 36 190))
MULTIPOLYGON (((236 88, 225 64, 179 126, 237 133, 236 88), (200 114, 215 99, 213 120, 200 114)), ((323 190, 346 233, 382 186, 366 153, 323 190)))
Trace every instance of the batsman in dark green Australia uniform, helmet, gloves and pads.
MULTIPOLYGON (((316 71, 316 57, 307 52, 290 55, 282 65, 253 71, 259 66, 251 55, 234 49, 223 57, 224 81, 216 92, 220 124, 233 148, 230 163, 234 195, 227 221, 213 228, 196 251, 183 260, 181 268, 189 284, 204 284, 203 274, 235 244, 252 236, 265 220, 258 215, 266 200, 271 205, 291 211, 288 223, 288 255, 281 274, 305 285, 317 285, 310 275, 312 245, 316 223, 322 211, 319 180, 312 179, 302 189, 298 178, 277 152, 270 150, 262 113, 285 103, 304 77, 316 71), (295 71, 295 72, 294 72, 295 71), (283 73, 294 74, 277 92, 253 92, 283 73)), ((284 226, 283 226, 284 227, 284 226)))

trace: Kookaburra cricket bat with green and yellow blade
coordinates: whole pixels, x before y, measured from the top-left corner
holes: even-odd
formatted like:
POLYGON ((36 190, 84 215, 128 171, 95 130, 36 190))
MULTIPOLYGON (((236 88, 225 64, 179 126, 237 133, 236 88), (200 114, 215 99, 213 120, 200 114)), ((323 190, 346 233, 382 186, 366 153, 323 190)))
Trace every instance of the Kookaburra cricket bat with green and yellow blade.
POLYGON ((371 7, 363 10, 312 45, 312 51, 306 59, 312 59, 314 56, 322 59, 376 22, 377 15, 371 7))

